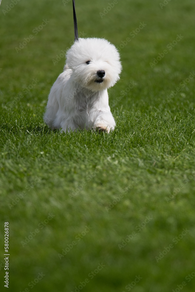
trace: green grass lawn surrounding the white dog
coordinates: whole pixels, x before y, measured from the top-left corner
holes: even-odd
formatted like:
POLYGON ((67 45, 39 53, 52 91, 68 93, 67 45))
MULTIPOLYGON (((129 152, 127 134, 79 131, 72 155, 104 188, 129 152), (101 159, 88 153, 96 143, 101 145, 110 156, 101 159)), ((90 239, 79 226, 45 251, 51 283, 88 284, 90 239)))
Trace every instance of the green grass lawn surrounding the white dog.
MULTIPOLYGON (((11 2, 2 0, 0 261, 8 221, 11 292, 75 292, 85 279, 84 292, 126 292, 136 276, 142 279, 134 292, 178 292, 184 281, 182 291, 194 292, 195 79, 184 87, 180 82, 194 72, 195 4, 172 0, 161 9, 157 0, 118 1, 101 18, 112 2, 76 1, 78 31, 118 47, 146 23, 120 50, 121 79, 109 89, 117 126, 107 135, 52 132, 42 119, 65 62, 54 66, 52 60, 74 38, 71 1, 21 0, 4 15, 11 2), (43 19, 49 23, 33 34, 43 19), (177 34, 184 37, 168 50, 177 34), (170 98, 176 88, 181 90, 170 98), (48 221, 49 213, 55 216, 48 221), (146 217, 152 219, 145 224, 146 217), (119 246, 130 234, 130 242, 119 246), (92 279, 99 263, 105 267, 92 279), (28 286, 39 273, 45 276, 28 286)), ((1 291, 7 291, 2 266, 1 291)))

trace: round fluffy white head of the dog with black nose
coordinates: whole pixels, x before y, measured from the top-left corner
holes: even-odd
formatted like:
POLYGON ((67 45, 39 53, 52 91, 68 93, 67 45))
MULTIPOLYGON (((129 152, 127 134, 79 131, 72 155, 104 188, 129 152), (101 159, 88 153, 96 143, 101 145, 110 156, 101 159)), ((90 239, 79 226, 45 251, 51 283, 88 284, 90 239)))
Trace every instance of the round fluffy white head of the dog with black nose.
POLYGON ((113 86, 120 78, 120 55, 106 39, 78 39, 66 53, 66 67, 81 86, 99 91, 113 86))

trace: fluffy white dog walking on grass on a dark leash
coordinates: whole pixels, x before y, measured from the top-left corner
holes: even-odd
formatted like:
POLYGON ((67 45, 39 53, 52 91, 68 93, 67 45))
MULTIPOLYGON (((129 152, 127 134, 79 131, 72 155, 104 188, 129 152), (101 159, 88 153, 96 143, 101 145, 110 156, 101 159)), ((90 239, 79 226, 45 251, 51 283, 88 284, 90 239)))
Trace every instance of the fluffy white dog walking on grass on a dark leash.
POLYGON ((113 130, 107 88, 120 78, 117 49, 106 39, 78 39, 66 59, 63 73, 51 88, 44 121, 61 131, 113 130))

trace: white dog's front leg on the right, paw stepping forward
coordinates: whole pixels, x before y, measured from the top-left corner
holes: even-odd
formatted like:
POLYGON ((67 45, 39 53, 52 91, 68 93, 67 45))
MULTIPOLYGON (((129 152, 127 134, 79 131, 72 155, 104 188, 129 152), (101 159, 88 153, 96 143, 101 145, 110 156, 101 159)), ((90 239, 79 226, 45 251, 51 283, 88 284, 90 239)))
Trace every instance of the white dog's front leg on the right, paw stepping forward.
POLYGON ((94 121, 92 128, 109 133, 115 128, 115 120, 108 105, 108 92, 104 90, 97 100, 94 100, 90 110, 91 120, 94 121))

